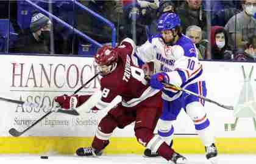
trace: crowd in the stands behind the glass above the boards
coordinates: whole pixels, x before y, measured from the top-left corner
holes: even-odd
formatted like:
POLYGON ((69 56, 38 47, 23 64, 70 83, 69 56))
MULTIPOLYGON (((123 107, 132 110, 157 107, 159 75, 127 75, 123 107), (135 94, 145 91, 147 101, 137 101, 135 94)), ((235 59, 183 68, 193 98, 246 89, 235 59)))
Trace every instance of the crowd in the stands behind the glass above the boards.
MULTIPOLYGON (((32 1, 54 14, 100 44, 112 42, 112 29, 85 10, 77 9, 73 1, 32 1)), ((116 42, 132 38, 138 46, 158 33, 157 19, 166 12, 176 13, 182 32, 196 45, 200 59, 255 61, 256 0, 113 0, 77 1, 112 22, 116 42)), ((24 1, 0 2, 1 20, 9 20, 9 36, 0 28, 0 51, 9 53, 43 53, 87 55, 96 50, 87 39, 67 29, 51 16, 24 1), (30 14, 26 15, 26 12, 30 14), (27 16, 27 17, 26 17, 27 16), (29 20, 27 20, 29 19, 29 20), (11 28, 12 27, 12 28, 11 28), (1 39, 8 39, 1 46, 1 39)), ((92 54, 93 55, 93 54, 92 54)))

